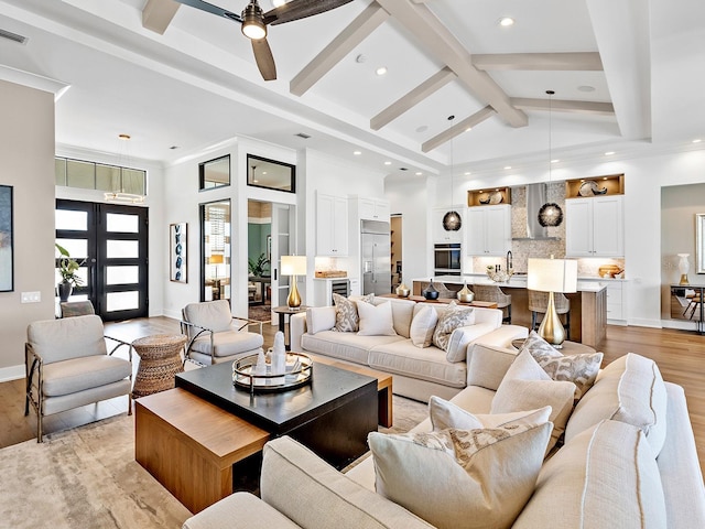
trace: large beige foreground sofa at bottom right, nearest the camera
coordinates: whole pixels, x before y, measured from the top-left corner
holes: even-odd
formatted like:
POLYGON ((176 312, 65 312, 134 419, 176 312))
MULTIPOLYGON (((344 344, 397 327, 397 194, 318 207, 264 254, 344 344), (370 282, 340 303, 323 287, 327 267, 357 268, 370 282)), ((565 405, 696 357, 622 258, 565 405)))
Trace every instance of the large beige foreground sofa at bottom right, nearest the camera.
MULTIPOLYGON (((453 402, 487 413, 508 363, 475 360, 475 384, 453 402)), ((506 527, 705 527, 705 489, 685 396, 680 386, 663 382, 654 366, 630 354, 600 373, 567 422, 565 444, 544 461, 528 503, 506 527)), ((425 421, 414 430, 430 428, 425 421)), ((184 529, 434 527, 373 492, 372 460, 341 474, 295 441, 276 439, 264 446, 261 499, 234 494, 186 520, 184 529)), ((484 527, 475 521, 465 518, 456 527, 484 527)))

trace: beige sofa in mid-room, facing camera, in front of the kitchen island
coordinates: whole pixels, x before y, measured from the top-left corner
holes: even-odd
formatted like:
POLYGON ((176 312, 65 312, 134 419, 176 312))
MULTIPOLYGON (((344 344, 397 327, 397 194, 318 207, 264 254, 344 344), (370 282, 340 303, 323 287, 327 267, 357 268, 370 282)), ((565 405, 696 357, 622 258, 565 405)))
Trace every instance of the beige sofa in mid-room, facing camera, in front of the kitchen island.
POLYGON ((451 399, 466 386, 467 348, 475 343, 508 347, 512 339, 525 338, 528 330, 502 325, 502 312, 474 307, 475 324, 453 334, 448 352, 431 345, 416 347, 410 338, 413 319, 425 306, 442 313, 442 303, 416 303, 410 300, 376 298, 375 304, 390 303, 395 335, 360 336, 332 331, 335 307, 317 306, 291 317, 292 350, 337 358, 369 366, 393 376, 397 395, 427 402, 432 395, 451 399))

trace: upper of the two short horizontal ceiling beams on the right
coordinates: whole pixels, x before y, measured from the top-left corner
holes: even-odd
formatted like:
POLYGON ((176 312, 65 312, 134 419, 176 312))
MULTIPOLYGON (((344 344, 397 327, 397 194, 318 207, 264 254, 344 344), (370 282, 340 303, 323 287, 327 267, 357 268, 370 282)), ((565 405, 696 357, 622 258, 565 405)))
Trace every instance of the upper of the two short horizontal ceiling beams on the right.
POLYGON ((522 69, 542 72, 601 72, 597 52, 577 53, 488 53, 473 55, 473 65, 487 69, 522 69))

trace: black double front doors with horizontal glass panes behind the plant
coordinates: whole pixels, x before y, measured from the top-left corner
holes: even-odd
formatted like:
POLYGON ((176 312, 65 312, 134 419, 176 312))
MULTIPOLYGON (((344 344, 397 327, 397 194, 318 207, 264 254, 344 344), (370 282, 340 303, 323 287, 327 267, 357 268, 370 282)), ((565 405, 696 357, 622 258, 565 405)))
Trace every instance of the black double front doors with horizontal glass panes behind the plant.
POLYGON ((89 300, 104 321, 147 317, 149 209, 57 199, 55 218, 56 242, 83 261, 68 301, 89 300))

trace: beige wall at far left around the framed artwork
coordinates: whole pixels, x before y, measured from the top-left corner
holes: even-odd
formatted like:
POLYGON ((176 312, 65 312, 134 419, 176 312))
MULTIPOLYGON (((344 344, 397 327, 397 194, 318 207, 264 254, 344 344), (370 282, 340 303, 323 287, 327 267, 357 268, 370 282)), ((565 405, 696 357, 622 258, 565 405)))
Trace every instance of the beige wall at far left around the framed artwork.
POLYGON ((24 376, 26 326, 54 317, 54 95, 0 80, 0 184, 13 186, 14 205, 14 291, 0 292, 2 381, 24 376), (21 303, 31 291, 41 302, 21 303))

